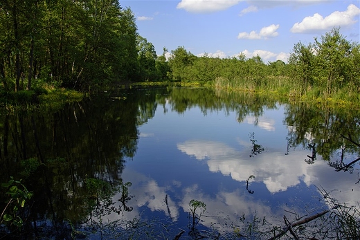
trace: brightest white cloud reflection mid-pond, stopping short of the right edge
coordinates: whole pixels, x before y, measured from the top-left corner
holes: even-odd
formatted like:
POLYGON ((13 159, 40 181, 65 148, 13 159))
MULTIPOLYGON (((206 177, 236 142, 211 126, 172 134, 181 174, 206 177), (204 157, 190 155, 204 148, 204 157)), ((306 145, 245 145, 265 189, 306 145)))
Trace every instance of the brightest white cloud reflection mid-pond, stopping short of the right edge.
POLYGON ((304 177, 308 176, 307 165, 301 161, 301 152, 294 152, 291 158, 279 152, 249 158, 247 148, 237 151, 222 142, 206 140, 189 140, 179 143, 177 147, 197 160, 206 160, 211 172, 221 172, 240 182, 254 175, 255 181, 264 183, 271 193, 298 185, 300 178, 309 184, 307 177, 304 177))

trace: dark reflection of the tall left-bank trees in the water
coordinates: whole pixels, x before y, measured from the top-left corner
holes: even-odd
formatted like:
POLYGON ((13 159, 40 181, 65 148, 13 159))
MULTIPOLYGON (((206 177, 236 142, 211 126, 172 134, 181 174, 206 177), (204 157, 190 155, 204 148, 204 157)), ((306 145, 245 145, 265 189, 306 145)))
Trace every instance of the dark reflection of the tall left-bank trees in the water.
MULTIPOLYGON (((129 183, 120 175, 123 159, 136 152, 139 99, 129 95, 109 101, 102 96, 64 109, 14 111, 0 118, 0 181, 23 178, 34 192, 25 232, 65 237, 69 221, 77 225, 132 210, 127 206, 129 183), (120 207, 114 208, 117 192, 123 194, 120 207)), ((1 193, 0 199, 2 210, 6 195, 1 193)))

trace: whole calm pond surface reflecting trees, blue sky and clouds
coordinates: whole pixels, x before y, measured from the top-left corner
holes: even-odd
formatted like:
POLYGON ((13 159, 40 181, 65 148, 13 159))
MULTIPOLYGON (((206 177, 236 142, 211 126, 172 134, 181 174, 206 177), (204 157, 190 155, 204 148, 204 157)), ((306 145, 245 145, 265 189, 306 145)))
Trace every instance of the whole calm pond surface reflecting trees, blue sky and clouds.
POLYGON ((284 216, 359 204, 359 122, 359 110, 191 88, 3 111, 1 183, 21 178, 33 197, 22 233, 0 234, 255 239, 284 216))

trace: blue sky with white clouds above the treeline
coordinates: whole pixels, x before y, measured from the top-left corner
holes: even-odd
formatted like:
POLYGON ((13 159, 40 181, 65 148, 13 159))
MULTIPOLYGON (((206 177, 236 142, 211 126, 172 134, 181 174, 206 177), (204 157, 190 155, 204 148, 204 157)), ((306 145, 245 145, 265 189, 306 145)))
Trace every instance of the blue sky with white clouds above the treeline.
POLYGON ((294 44, 314 42, 334 26, 359 42, 360 1, 354 0, 132 0, 138 33, 161 55, 183 46, 194 55, 287 57, 294 44))

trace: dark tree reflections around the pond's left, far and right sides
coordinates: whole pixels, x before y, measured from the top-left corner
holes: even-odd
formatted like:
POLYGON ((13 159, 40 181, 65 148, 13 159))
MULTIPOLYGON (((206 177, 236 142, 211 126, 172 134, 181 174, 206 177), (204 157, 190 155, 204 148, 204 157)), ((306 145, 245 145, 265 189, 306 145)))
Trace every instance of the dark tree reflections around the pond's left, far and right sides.
MULTIPOLYGON (((310 151, 305 159, 308 164, 314 164, 321 156, 336 171, 354 171, 354 165, 360 159, 353 159, 359 154, 360 147, 357 141, 360 139, 359 112, 305 103, 282 104, 285 107, 283 123, 289 130, 285 155, 291 155, 291 149, 303 147, 310 151)), ((9 194, 6 187, 1 187, 1 212, 6 210, 8 214, 11 211, 15 214, 15 211, 24 223, 20 231, 17 225, 10 224, 11 221, 6 223, 1 219, 0 234, 6 239, 71 239, 87 237, 91 232, 106 234, 106 231, 119 237, 131 237, 131 234, 138 237, 145 233, 158 237, 170 234, 174 239, 184 237, 185 234, 180 232, 186 231, 179 231, 179 228, 167 233, 166 228, 172 228, 172 219, 166 220, 159 232, 141 232, 152 226, 151 221, 101 222, 102 216, 121 216, 123 212, 133 210, 129 205, 130 200, 136 198, 131 192, 132 183, 122 179, 125 159, 136 155, 138 127, 154 118, 158 106, 163 107, 164 114, 168 111, 184 113, 192 107, 198 107, 204 116, 213 111, 235 112, 237 122, 242 123, 247 116, 252 116, 255 118, 253 124, 258 124, 264 111, 278 109, 279 103, 273 98, 251 93, 170 88, 128 89, 98 95, 56 111, 2 109, 0 182, 8 183, 10 177, 22 179, 21 183, 33 196, 21 209, 10 210, 6 207, 9 194), (120 198, 114 200, 119 193, 120 198), (105 225, 107 230, 102 229, 105 225)), ((249 156, 253 158, 262 154, 265 147, 258 144, 261 139, 255 140, 254 132, 249 136, 249 156)), ((249 189, 249 181, 254 178, 251 175, 246 180, 249 194, 254 194, 254 190, 249 189)), ((168 195, 164 201, 171 218, 168 195)), ((197 229, 201 225, 201 214, 206 210, 205 203, 201 203, 196 200, 189 203, 192 224, 188 237, 195 236, 194 239, 204 235, 197 229)), ((233 230, 235 235, 236 229, 233 230)), ((214 232, 207 236, 210 235, 217 236, 214 232)))

